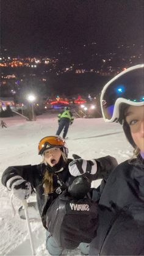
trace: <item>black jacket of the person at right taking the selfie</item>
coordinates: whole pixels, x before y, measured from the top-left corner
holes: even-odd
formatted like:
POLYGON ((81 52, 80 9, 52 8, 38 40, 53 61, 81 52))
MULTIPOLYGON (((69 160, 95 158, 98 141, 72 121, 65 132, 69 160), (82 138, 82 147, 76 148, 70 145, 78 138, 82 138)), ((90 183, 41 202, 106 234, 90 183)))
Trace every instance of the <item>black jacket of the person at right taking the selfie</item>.
POLYGON ((144 255, 144 161, 121 163, 99 200, 97 235, 90 255, 144 255))

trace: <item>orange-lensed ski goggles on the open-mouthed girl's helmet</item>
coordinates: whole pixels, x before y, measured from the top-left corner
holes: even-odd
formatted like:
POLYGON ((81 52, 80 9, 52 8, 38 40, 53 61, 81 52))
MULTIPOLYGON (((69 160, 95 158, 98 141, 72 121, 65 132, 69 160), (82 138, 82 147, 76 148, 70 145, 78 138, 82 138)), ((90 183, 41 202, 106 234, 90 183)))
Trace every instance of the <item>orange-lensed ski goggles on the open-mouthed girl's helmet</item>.
POLYGON ((47 149, 58 147, 65 147, 65 140, 58 136, 43 137, 38 144, 38 155, 43 155, 43 152, 47 149))

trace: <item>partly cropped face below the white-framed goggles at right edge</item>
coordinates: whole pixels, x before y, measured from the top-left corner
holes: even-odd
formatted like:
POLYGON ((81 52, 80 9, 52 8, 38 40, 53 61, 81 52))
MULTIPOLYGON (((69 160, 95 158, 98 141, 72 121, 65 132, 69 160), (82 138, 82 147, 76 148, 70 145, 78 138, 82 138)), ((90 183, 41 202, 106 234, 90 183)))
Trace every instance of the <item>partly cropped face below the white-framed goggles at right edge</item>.
POLYGON ((132 139, 137 147, 144 152, 144 106, 130 106, 126 111, 132 139))

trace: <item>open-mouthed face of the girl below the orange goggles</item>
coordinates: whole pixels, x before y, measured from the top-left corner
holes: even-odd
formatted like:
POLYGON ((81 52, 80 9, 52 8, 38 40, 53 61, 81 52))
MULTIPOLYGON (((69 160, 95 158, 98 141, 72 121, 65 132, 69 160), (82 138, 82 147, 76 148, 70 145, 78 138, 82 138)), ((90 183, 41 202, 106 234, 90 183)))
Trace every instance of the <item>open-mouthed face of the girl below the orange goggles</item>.
POLYGON ((50 148, 44 152, 44 158, 46 163, 49 164, 49 166, 55 166, 57 163, 59 163, 60 156, 62 155, 62 152, 60 148, 50 148))

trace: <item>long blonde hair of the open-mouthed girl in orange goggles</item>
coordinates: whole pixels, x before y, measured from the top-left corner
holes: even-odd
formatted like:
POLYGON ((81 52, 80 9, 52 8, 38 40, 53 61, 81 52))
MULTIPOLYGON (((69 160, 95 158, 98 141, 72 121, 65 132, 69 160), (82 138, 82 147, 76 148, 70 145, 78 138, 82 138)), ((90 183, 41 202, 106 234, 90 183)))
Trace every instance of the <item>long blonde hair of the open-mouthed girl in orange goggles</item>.
MULTIPOLYGON (((63 153, 62 151, 61 151, 61 156, 63 158, 63 161, 65 163, 67 163, 68 158, 65 155, 65 153, 63 153)), ((46 162, 45 162, 45 155, 44 154, 43 154, 43 161, 41 163, 45 163, 46 164, 46 162)), ((54 191, 53 175, 54 174, 50 173, 48 171, 48 169, 45 169, 45 174, 44 174, 44 177, 43 177, 43 188, 44 188, 45 196, 54 191)))

